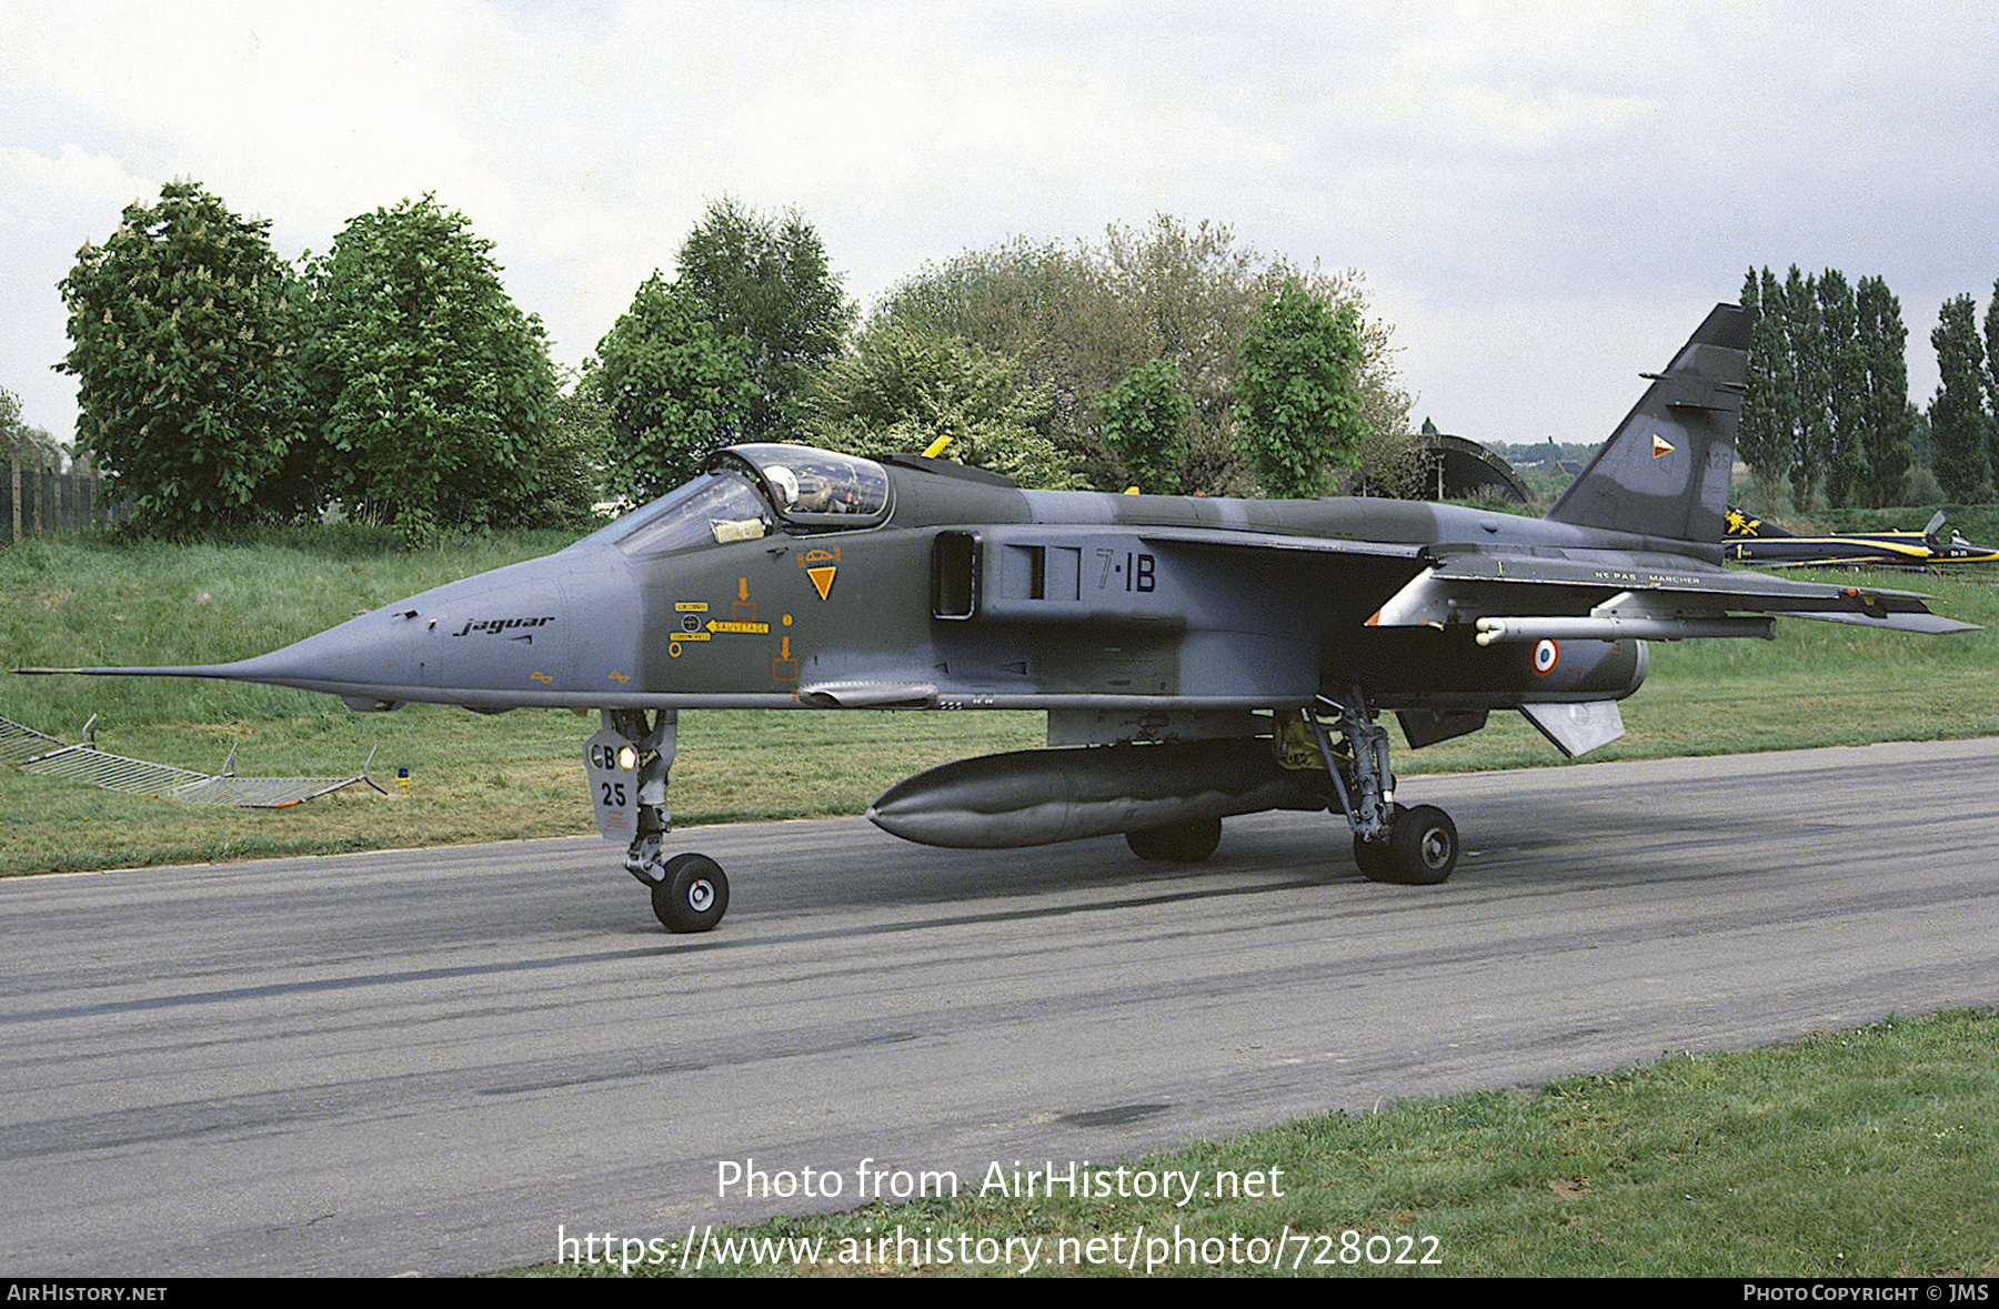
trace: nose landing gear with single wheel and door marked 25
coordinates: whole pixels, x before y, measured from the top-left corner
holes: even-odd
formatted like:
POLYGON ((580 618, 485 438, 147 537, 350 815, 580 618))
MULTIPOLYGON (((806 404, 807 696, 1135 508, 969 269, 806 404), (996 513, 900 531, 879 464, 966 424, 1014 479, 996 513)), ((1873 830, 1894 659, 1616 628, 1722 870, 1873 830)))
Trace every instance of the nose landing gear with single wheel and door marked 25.
POLYGON ((604 729, 590 737, 590 793, 598 829, 612 839, 632 833, 626 871, 652 891, 652 911, 668 931, 708 931, 730 909, 730 879, 708 855, 666 853, 674 813, 666 781, 674 767, 678 717, 660 709, 604 709, 604 729))

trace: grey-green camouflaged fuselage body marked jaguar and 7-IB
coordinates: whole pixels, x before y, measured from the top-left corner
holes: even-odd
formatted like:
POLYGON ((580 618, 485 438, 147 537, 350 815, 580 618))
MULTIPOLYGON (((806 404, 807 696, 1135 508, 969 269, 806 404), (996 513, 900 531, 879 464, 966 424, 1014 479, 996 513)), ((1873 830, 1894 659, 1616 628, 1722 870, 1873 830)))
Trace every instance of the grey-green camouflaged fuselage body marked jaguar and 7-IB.
MULTIPOLYGON (((888 476, 880 522, 774 520, 666 554, 606 530, 214 673, 356 707, 482 709, 1267 709, 1325 685, 1365 685, 1383 707, 1501 707, 1615 697, 1641 675, 1635 642, 1563 642, 1537 663, 1531 646, 1475 646, 1463 624, 1367 626, 1439 552, 1585 544, 1561 524, 1383 500, 1021 492, 908 456, 888 476)), ((1647 568, 1645 542, 1629 546, 1619 564, 1647 568)))

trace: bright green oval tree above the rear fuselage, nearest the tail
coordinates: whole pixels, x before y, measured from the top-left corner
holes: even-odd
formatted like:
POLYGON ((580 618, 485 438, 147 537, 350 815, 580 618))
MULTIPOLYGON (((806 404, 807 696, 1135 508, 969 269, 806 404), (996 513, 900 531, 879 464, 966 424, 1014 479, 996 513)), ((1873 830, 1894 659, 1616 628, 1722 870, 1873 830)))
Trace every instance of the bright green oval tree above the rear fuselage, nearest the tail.
POLYGON ((1327 304, 1293 282, 1243 342, 1243 442, 1271 496, 1317 496, 1359 452, 1357 318, 1351 304, 1327 304))

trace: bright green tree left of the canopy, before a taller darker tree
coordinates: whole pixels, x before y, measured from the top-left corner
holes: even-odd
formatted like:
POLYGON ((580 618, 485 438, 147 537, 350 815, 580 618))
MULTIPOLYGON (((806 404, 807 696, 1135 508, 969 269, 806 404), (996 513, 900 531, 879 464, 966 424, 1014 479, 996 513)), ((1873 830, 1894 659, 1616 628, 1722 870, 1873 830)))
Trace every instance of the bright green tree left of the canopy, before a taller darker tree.
POLYGON ((598 342, 590 390, 610 414, 610 484, 658 496, 702 462, 748 440, 762 394, 742 338, 724 338, 702 304, 658 272, 598 342))

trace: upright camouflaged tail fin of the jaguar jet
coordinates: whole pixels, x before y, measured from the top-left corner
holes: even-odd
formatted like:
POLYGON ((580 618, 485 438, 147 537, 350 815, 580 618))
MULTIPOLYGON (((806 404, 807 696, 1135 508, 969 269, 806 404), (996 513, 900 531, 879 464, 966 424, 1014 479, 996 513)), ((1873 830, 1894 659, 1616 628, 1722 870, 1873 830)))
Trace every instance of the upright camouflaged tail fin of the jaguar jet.
POLYGON ((1575 478, 1553 522, 1719 550, 1751 314, 1717 304, 1575 478))

